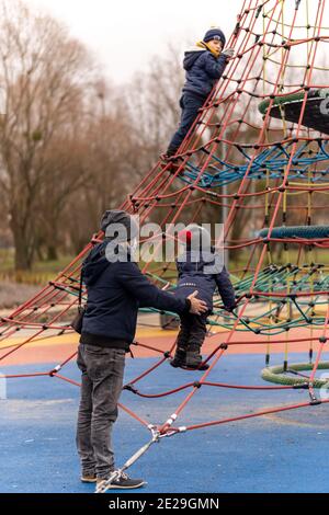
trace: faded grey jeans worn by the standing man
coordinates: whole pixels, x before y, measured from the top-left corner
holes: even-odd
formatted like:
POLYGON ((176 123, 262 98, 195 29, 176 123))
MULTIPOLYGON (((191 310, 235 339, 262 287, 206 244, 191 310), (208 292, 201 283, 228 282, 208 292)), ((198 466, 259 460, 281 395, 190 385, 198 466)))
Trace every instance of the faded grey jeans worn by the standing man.
POLYGON ((105 479, 115 469, 112 426, 117 419, 125 351, 80 344, 77 364, 82 373, 77 427, 82 476, 105 479))

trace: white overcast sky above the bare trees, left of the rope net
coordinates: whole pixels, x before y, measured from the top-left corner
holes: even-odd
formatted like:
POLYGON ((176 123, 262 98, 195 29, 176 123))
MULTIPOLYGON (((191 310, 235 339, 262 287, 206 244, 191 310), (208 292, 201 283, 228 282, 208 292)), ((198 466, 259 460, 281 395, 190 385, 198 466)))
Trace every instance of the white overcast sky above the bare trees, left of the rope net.
POLYGON ((145 69, 168 42, 178 48, 220 26, 228 36, 242 0, 25 0, 64 21, 95 54, 113 82, 145 69))

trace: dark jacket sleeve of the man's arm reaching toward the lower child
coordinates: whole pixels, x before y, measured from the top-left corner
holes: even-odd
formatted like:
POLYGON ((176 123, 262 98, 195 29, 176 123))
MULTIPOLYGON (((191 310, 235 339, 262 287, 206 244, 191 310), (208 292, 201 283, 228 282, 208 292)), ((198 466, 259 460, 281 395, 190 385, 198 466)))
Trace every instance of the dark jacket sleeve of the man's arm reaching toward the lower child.
POLYGON ((136 263, 120 263, 117 279, 121 285, 138 301, 140 308, 156 308, 173 311, 178 314, 188 313, 191 302, 189 299, 175 298, 172 294, 162 291, 152 285, 141 274, 136 263))

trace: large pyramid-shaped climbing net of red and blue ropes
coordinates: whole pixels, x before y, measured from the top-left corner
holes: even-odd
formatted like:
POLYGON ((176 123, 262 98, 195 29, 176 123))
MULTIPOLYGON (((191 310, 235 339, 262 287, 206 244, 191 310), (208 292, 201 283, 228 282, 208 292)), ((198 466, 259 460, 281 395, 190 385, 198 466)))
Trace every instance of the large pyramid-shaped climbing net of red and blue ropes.
MULTIPOLYGON (((154 431, 156 426, 160 436, 329 402, 320 401, 316 391, 324 384, 316 377, 317 371, 328 366, 324 362, 329 319, 326 261, 329 227, 325 218, 329 194, 326 1, 241 3, 228 42, 236 57, 230 59, 225 76, 177 156, 167 163, 157 162, 120 206, 138 214, 140 224, 151 219, 162 228, 178 221, 202 222, 209 217, 223 221, 225 251, 234 264, 230 273, 238 308, 228 314, 220 307, 220 299, 215 298, 214 314, 208 320, 212 352, 205 359, 209 368, 198 373, 196 381, 145 392, 143 379, 154 375, 156 387, 156 373, 160 366, 168 366, 175 343, 166 353, 156 344, 134 344, 159 359, 125 389, 145 399, 172 396, 173 411, 167 420, 152 424, 143 413, 122 404, 121 408, 145 427, 154 431), (225 334, 225 343, 219 343, 219 334, 225 334), (246 343, 265 351, 262 377, 275 385, 214 381, 216 365, 227 351, 243 348, 246 343), (271 367, 272 350, 282 343, 284 363, 271 367), (290 348, 296 343, 305 347, 306 364, 290 364, 290 348), (177 419, 202 388, 269 390, 269 393, 300 388, 305 389, 305 399, 235 417, 177 426, 177 419), (185 393, 177 402, 179 405, 174 404, 178 392, 185 393)), ((164 229, 160 236, 171 238, 164 229)), ((73 334, 68 321, 78 304, 81 262, 103 237, 102 232, 94 234, 53 282, 1 319, 2 366, 31 343, 73 334), (29 335, 14 343, 23 330, 29 335)), ((174 288, 174 264, 146 263, 143 272, 157 286, 174 288)), ((155 310, 141 310, 147 311, 155 310)), ((52 370, 7 377, 50 376, 78 386, 61 373, 75 357, 76 353, 67 356, 52 370)))

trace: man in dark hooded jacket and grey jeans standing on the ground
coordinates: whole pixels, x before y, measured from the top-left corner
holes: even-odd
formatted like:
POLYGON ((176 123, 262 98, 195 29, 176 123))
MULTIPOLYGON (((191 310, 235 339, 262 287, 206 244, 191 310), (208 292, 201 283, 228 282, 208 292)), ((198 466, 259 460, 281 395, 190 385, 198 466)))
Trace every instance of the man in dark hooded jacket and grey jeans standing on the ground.
MULTIPOLYGON (((158 289, 140 273, 132 255, 132 243, 138 236, 133 217, 125 211, 106 211, 101 229, 105 232, 104 241, 94 247, 82 265, 88 302, 78 352, 82 382, 77 427, 81 481, 98 482, 99 489, 115 469, 111 433, 138 308, 152 307, 179 314, 202 313, 207 309, 205 302, 196 299, 197 291, 178 299, 158 289)), ((143 484, 141 479, 123 473, 110 488, 136 489, 143 484)))

